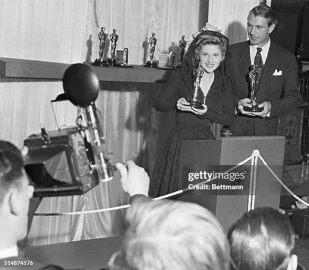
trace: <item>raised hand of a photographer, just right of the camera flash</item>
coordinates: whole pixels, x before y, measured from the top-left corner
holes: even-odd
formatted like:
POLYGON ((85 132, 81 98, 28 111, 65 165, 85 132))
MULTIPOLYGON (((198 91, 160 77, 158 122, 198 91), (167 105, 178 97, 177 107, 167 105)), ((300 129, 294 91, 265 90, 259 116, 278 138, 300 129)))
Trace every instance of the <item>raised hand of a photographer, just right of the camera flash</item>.
POLYGON ((127 161, 126 165, 117 163, 116 168, 121 175, 122 188, 130 197, 136 194, 148 197, 149 176, 144 168, 137 166, 132 160, 127 161))

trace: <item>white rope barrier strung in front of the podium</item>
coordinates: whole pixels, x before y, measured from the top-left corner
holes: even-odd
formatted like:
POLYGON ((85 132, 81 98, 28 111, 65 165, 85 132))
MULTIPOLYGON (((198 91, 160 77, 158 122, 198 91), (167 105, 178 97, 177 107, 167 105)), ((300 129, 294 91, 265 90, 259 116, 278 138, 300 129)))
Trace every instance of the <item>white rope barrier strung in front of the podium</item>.
MULTIPOLYGON (((248 211, 250 211, 251 209, 254 209, 254 203, 255 203, 255 186, 256 186, 256 167, 257 167, 257 163, 258 163, 258 158, 260 158, 263 162, 263 164, 265 165, 265 167, 271 172, 271 174, 275 177, 275 179, 294 197, 296 198, 298 201, 302 202, 303 204, 309 206, 309 203, 303 201, 302 199, 300 199, 298 196, 296 196, 278 177, 277 175, 273 172, 273 170, 268 166, 268 164, 266 163, 266 161, 264 160, 264 158, 260 155, 260 151, 255 149, 252 151, 252 154, 247 157, 246 159, 244 159, 243 161, 241 161, 240 163, 238 163, 237 165, 233 166, 232 168, 226 170, 225 172, 223 172, 223 174, 229 173, 235 169, 237 169, 239 166, 245 164, 248 160, 251 159, 251 168, 250 168, 250 184, 249 184, 249 195, 248 195, 248 211)), ((209 180, 204 180, 202 182, 199 182, 195 185, 195 186, 201 186, 205 183, 210 183, 214 180, 216 180, 219 176, 217 177, 213 177, 209 180)), ((166 198, 171 198, 174 197, 178 194, 184 193, 186 191, 190 190, 189 187, 185 188, 185 189, 181 189, 172 193, 169 193, 167 195, 163 195, 157 198, 153 198, 152 200, 161 200, 161 199, 166 199, 166 198)), ((88 214, 88 213, 99 213, 99 212, 106 212, 106 211, 113 211, 113 210, 119 210, 119 209, 125 209, 125 208, 129 208, 130 204, 125 204, 125 205, 121 205, 121 206, 115 206, 115 207, 109 207, 109 208, 103 208, 103 209, 97 209, 97 210, 86 210, 86 211, 75 211, 75 212, 63 212, 63 213, 34 213, 34 215, 37 216, 52 216, 52 215, 76 215, 76 214, 88 214)))

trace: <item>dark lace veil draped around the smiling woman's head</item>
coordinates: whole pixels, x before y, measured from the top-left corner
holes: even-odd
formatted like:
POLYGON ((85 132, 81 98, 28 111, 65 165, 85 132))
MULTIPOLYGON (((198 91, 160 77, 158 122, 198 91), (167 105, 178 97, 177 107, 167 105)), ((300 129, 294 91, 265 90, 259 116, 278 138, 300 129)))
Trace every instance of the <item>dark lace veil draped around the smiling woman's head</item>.
MULTIPOLYGON (((205 30, 201 32, 197 37, 193 39, 191 44, 188 47, 188 50, 184 56, 184 59, 181 63, 181 69, 180 69, 180 74, 181 78, 184 82, 184 84, 191 90, 193 91, 193 69, 197 67, 198 61, 195 59, 195 44, 197 40, 201 36, 216 36, 219 38, 224 38, 227 40, 227 49, 225 52, 225 58, 224 60, 221 61, 219 67, 214 71, 215 74, 219 72, 221 74, 222 79, 223 79, 223 86, 224 90, 228 89, 231 87, 231 81, 230 81, 230 52, 229 52, 229 39, 221 34, 220 32, 217 31, 210 31, 210 30, 205 30)), ((223 90, 223 89, 222 89, 223 90)), ((221 91, 222 92, 222 91, 221 91)))

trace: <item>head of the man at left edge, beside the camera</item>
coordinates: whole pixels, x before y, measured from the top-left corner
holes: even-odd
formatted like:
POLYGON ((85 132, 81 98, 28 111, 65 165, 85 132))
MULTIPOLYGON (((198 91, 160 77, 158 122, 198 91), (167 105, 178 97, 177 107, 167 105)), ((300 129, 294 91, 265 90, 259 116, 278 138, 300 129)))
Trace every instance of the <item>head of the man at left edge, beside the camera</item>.
POLYGON ((32 194, 20 150, 10 142, 0 141, 0 248, 26 237, 32 194))

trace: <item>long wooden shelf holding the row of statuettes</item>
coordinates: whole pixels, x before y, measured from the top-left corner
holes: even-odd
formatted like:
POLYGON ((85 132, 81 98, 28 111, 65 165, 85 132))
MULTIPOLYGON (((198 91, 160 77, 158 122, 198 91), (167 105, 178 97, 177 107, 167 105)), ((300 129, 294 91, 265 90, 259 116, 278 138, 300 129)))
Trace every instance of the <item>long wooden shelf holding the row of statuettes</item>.
MULTIPOLYGON (((164 83, 169 70, 158 70, 134 65, 133 68, 97 67, 90 65, 100 81, 164 83)), ((70 64, 0 58, 0 74, 5 77, 62 80, 70 64)))

